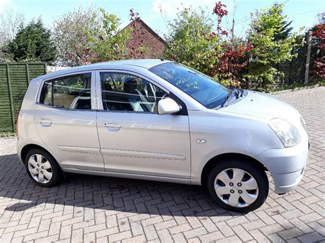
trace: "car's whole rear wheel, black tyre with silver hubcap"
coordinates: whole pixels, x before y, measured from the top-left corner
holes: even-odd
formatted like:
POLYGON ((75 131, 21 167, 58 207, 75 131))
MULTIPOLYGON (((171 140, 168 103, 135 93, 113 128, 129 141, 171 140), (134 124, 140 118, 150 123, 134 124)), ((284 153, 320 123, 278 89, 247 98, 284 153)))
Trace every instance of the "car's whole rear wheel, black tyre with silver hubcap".
POLYGON ((43 149, 32 149, 27 153, 25 168, 30 179, 44 188, 56 186, 63 177, 56 159, 43 149))

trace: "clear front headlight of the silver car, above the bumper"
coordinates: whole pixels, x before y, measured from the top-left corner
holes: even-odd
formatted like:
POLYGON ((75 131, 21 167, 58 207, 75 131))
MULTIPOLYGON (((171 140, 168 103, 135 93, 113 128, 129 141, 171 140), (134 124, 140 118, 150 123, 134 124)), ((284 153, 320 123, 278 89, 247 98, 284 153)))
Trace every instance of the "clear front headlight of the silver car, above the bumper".
POLYGON ((276 136, 280 138, 282 144, 287 148, 289 146, 295 146, 301 140, 300 134, 296 127, 294 127, 287 120, 280 118, 274 118, 269 120, 269 127, 276 133, 276 136))

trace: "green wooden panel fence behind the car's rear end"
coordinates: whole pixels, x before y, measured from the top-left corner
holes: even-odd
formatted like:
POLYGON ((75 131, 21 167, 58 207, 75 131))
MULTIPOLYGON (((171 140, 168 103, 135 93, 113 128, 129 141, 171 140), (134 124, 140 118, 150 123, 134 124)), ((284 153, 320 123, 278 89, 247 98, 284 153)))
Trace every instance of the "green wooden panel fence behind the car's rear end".
POLYGON ((0 132, 16 131, 16 116, 29 81, 46 73, 44 62, 0 63, 0 132))

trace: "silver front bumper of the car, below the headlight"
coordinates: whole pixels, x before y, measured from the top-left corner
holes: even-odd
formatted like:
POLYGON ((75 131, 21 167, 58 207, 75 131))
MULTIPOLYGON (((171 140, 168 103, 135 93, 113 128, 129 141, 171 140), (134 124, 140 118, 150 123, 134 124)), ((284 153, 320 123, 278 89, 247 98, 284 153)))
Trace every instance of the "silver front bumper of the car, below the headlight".
POLYGON ((256 156, 256 159, 271 173, 276 194, 296 189, 304 174, 309 146, 309 139, 305 136, 296 146, 268 149, 256 156))

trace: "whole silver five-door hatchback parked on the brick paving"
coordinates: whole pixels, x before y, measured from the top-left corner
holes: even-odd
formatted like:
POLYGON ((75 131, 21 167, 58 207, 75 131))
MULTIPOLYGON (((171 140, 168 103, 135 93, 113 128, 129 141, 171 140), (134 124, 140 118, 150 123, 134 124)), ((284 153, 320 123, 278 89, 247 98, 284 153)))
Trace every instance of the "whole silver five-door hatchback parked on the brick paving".
POLYGON ((309 138, 291 105, 230 89, 165 60, 69 68, 32 80, 18 155, 38 186, 64 172, 203 185, 221 207, 249 212, 298 185, 309 138))

